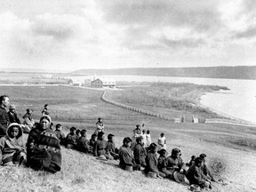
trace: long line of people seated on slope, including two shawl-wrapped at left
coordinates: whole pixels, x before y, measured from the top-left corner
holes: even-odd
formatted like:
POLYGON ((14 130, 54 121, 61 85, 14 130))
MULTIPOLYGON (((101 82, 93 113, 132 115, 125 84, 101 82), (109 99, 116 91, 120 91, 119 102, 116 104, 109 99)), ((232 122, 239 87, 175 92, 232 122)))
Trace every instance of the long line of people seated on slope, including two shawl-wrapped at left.
MULTIPOLYGON (((183 182, 186 177, 189 184, 211 188, 211 182, 214 179, 205 165, 206 155, 192 156, 189 165, 186 165, 180 157, 179 148, 173 148, 171 156, 168 156, 166 147, 157 150, 159 148, 156 143, 145 145, 143 133, 140 135, 137 132, 140 129, 138 126, 136 137, 134 135, 132 139, 125 137, 123 146, 118 149, 114 140, 115 135, 110 133, 108 141, 105 140, 104 124, 101 118, 98 119, 96 126, 96 131, 90 140, 86 138, 85 129, 80 131, 75 127, 71 127, 65 137, 61 131, 61 124, 56 124, 56 130, 53 131, 51 116, 43 114, 39 123, 34 124, 28 133, 27 143, 24 143, 21 125, 12 123, 8 126, 6 135, 0 139, 1 162, 3 165, 26 164, 35 170, 59 172, 60 145, 64 145, 66 148, 92 153, 100 160, 118 160, 119 166, 128 172, 143 171, 148 177, 169 178, 177 182, 183 182)), ((161 134, 161 137, 164 135, 161 134)))

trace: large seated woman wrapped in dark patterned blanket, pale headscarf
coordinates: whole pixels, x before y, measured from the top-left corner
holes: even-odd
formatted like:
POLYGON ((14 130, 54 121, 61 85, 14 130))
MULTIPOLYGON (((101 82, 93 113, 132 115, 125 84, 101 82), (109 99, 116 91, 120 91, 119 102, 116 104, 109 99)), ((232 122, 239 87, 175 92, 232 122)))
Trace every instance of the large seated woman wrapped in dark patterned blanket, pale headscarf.
POLYGON ((50 129, 52 119, 42 116, 40 123, 29 132, 27 142, 28 166, 35 170, 60 172, 60 140, 50 129))

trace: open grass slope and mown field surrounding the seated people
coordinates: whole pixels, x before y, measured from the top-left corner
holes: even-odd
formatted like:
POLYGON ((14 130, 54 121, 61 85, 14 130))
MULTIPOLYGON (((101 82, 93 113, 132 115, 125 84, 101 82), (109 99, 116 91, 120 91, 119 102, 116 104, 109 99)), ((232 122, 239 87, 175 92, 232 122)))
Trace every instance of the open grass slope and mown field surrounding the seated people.
MULTIPOLYGON (((174 124, 156 117, 144 116, 118 108, 100 100, 102 92, 73 87, 8 87, 0 86, 17 106, 19 116, 26 108, 34 109, 38 119, 45 103, 54 124, 61 123, 64 131, 76 126, 86 128, 88 136, 95 129, 99 116, 106 124, 106 133, 116 135, 116 146, 126 136, 132 137, 135 124, 146 124, 152 141, 161 132, 167 138, 167 150, 180 148, 182 158, 205 153, 208 167, 217 179, 212 191, 255 191, 256 130, 228 124, 174 124)), ((155 107, 156 108, 156 107, 155 107)), ((158 109, 157 109, 158 110, 158 109)), ((160 109, 159 109, 160 110, 160 109)), ((116 161, 100 162, 93 156, 62 148, 62 169, 54 175, 28 168, 0 167, 1 191, 188 191, 188 186, 172 180, 155 180, 141 172, 124 172, 116 161)))

